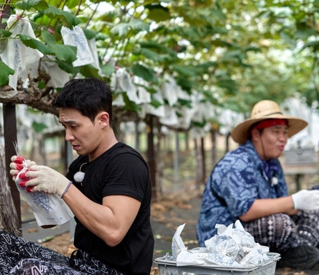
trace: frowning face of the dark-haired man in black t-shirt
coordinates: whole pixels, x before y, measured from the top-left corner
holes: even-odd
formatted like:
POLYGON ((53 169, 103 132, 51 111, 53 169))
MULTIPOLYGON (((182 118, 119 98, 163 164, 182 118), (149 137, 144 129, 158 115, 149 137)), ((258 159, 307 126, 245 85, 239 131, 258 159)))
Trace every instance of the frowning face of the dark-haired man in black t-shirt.
POLYGON ((101 127, 98 116, 95 122, 83 116, 76 109, 60 108, 59 121, 66 129, 66 140, 70 141, 73 150, 79 155, 96 158, 101 147, 101 127))

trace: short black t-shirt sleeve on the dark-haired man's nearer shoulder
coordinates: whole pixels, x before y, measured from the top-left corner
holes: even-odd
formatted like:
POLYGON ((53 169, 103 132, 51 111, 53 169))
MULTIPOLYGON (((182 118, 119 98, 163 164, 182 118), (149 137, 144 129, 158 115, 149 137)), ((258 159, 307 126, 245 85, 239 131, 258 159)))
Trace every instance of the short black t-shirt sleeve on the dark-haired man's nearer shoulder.
POLYGON ((112 159, 104 180, 103 197, 127 195, 142 202, 148 183, 148 169, 141 158, 123 153, 112 159))

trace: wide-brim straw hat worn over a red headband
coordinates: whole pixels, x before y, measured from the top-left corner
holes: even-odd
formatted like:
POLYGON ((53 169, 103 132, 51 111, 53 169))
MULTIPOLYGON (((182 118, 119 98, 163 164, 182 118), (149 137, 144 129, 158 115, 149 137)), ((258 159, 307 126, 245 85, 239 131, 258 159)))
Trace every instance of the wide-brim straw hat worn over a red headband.
POLYGON ((253 106, 250 118, 238 124, 233 129, 231 137, 239 144, 242 144, 248 139, 248 131, 253 124, 270 118, 282 118, 288 121, 288 138, 297 134, 308 125, 301 118, 284 115, 278 103, 271 100, 263 100, 253 106))

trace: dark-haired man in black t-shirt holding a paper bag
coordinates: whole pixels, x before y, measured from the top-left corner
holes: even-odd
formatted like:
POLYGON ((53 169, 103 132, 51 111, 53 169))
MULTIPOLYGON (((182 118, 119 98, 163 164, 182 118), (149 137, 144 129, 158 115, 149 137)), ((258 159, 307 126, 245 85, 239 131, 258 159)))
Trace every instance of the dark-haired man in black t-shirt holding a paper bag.
MULTIPOLYGON (((94 77, 66 83, 54 106, 59 109, 66 140, 79 157, 66 177, 46 166, 32 165, 24 175, 26 180, 20 182, 31 192, 58 194, 75 215, 78 250, 68 264, 65 259, 58 261, 58 269, 44 264, 55 274, 150 273, 154 238, 149 171, 136 150, 115 138, 111 94, 109 86, 94 77)), ((10 173, 15 176, 20 167, 16 156, 12 159, 10 173)), ((19 267, 40 269, 47 259, 22 261, 19 267)))

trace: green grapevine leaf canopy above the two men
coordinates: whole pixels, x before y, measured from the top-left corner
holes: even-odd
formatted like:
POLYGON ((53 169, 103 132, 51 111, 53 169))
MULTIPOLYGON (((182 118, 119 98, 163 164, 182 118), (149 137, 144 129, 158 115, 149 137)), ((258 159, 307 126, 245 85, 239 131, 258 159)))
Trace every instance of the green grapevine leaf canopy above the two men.
MULTIPOLYGON (((169 74, 189 95, 200 93, 201 102, 245 114, 262 99, 319 99, 318 0, 5 0, 0 7, 2 47, 21 39, 55 56, 70 78, 111 82, 125 68, 153 94, 169 74), (28 16, 36 39, 10 33, 8 12, 17 15, 15 24, 28 16), (76 50, 63 44, 62 26, 95 38, 101 71, 72 66, 76 50)), ((14 68, 0 68, 3 87, 14 68)), ((125 104, 138 111, 138 104, 125 104)))

